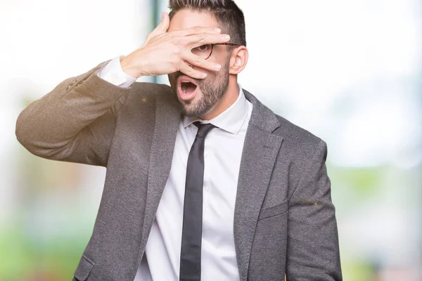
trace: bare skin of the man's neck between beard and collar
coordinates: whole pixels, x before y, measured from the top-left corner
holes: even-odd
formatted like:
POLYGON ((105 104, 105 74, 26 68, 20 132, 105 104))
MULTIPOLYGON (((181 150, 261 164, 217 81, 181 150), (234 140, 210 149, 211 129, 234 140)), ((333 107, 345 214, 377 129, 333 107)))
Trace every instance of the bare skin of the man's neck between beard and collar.
POLYGON ((224 93, 224 96, 214 105, 214 107, 212 107, 209 112, 200 116, 200 119, 210 120, 222 114, 222 112, 224 112, 227 108, 231 107, 231 105, 236 102, 239 96, 239 91, 240 89, 238 88, 237 77, 232 77, 232 75, 230 75, 229 86, 227 87, 227 91, 224 93))

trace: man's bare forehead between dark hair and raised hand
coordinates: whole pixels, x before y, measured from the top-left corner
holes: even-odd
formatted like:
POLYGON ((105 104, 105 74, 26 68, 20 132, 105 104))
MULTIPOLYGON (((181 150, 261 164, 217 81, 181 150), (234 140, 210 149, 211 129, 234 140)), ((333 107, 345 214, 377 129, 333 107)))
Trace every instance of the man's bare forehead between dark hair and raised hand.
POLYGON ((186 30, 194 26, 219 27, 219 24, 214 15, 210 13, 184 9, 174 14, 167 31, 186 30))

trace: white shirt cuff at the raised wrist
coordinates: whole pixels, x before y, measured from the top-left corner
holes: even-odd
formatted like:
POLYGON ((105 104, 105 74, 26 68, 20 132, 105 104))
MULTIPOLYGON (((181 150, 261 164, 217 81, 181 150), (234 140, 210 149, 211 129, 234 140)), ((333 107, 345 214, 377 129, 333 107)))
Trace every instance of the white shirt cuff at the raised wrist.
POLYGON ((136 78, 126 74, 122 65, 120 65, 120 58, 124 58, 124 55, 120 55, 113 60, 110 60, 98 73, 98 77, 108 81, 111 84, 116 86, 121 86, 123 88, 129 88, 136 78))

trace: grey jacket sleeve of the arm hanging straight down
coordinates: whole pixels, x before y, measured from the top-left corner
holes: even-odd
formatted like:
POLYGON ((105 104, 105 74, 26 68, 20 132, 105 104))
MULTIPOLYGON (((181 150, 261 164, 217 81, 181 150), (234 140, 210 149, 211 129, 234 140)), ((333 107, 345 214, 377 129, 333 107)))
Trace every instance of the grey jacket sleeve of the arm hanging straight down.
POLYGON ((335 208, 320 141, 289 201, 286 277, 290 281, 342 280, 335 208))

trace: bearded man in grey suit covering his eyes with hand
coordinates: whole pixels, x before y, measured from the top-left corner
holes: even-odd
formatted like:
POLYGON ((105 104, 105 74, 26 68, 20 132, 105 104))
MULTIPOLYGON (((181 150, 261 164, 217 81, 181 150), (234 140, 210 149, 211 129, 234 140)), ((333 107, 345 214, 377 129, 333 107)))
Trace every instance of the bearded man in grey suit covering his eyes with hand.
POLYGON ((170 10, 141 48, 18 117, 34 155, 107 168, 74 280, 341 280, 326 143, 238 84, 233 1, 170 10), (160 74, 171 87, 134 82, 160 74))

